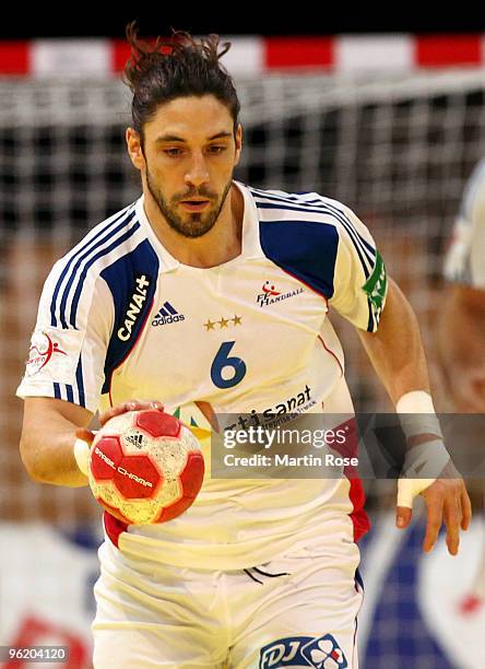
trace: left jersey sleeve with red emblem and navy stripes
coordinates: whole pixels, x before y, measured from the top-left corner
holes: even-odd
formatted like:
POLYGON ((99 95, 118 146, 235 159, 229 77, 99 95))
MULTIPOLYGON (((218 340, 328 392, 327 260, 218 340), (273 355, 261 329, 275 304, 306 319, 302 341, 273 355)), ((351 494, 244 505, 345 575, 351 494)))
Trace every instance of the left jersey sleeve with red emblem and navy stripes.
POLYGON ((57 262, 44 284, 16 395, 62 399, 95 413, 114 324, 113 297, 100 277, 87 277, 74 290, 66 267, 57 262))

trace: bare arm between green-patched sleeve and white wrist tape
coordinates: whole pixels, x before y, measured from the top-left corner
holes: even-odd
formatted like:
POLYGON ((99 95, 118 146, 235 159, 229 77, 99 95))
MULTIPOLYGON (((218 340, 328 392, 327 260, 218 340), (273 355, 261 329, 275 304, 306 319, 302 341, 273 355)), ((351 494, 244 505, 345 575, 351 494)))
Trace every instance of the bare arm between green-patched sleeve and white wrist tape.
POLYGON ((429 392, 428 368, 417 318, 392 280, 378 331, 358 331, 358 334, 394 406, 412 390, 429 392))

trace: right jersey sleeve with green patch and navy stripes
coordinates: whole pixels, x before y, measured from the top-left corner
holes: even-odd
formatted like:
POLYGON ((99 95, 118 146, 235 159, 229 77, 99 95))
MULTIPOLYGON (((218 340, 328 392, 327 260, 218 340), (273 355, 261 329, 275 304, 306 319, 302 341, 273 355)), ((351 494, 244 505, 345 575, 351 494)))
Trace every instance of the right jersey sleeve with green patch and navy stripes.
POLYGON ((367 227, 348 208, 338 233, 333 294, 329 304, 355 327, 375 332, 388 291, 382 256, 367 227))

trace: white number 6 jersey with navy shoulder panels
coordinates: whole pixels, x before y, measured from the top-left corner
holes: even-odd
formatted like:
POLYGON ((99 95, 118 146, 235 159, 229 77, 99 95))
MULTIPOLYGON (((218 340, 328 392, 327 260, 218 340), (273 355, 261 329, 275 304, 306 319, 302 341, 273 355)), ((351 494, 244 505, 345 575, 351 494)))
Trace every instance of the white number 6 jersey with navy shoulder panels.
MULTIPOLYGON (((170 256, 143 198, 59 260, 17 395, 92 412, 158 399, 199 426, 194 401, 211 402, 216 413, 274 415, 295 404, 298 412, 352 413, 328 309, 377 329, 387 280, 369 232, 350 209, 317 193, 237 187, 241 254, 224 265, 199 269, 170 256)), ((363 501, 355 479, 206 477, 175 520, 123 526, 105 514, 105 528, 141 560, 244 568, 308 543, 326 521, 358 537, 367 528, 363 501)))

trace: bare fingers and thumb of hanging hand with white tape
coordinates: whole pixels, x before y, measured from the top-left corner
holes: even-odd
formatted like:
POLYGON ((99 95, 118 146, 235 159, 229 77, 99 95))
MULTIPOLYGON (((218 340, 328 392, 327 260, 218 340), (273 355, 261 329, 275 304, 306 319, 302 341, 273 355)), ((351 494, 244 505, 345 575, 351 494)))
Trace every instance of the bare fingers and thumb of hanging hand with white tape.
MULTIPOLYGON (((460 544, 460 528, 468 530, 472 519, 472 505, 463 479, 450 461, 439 479, 428 485, 421 495, 427 509, 426 533, 423 541, 425 553, 431 551, 438 539, 441 525, 447 528, 447 547, 451 555, 457 555, 460 544)), ((397 507, 397 527, 409 527, 412 508, 397 507)))

